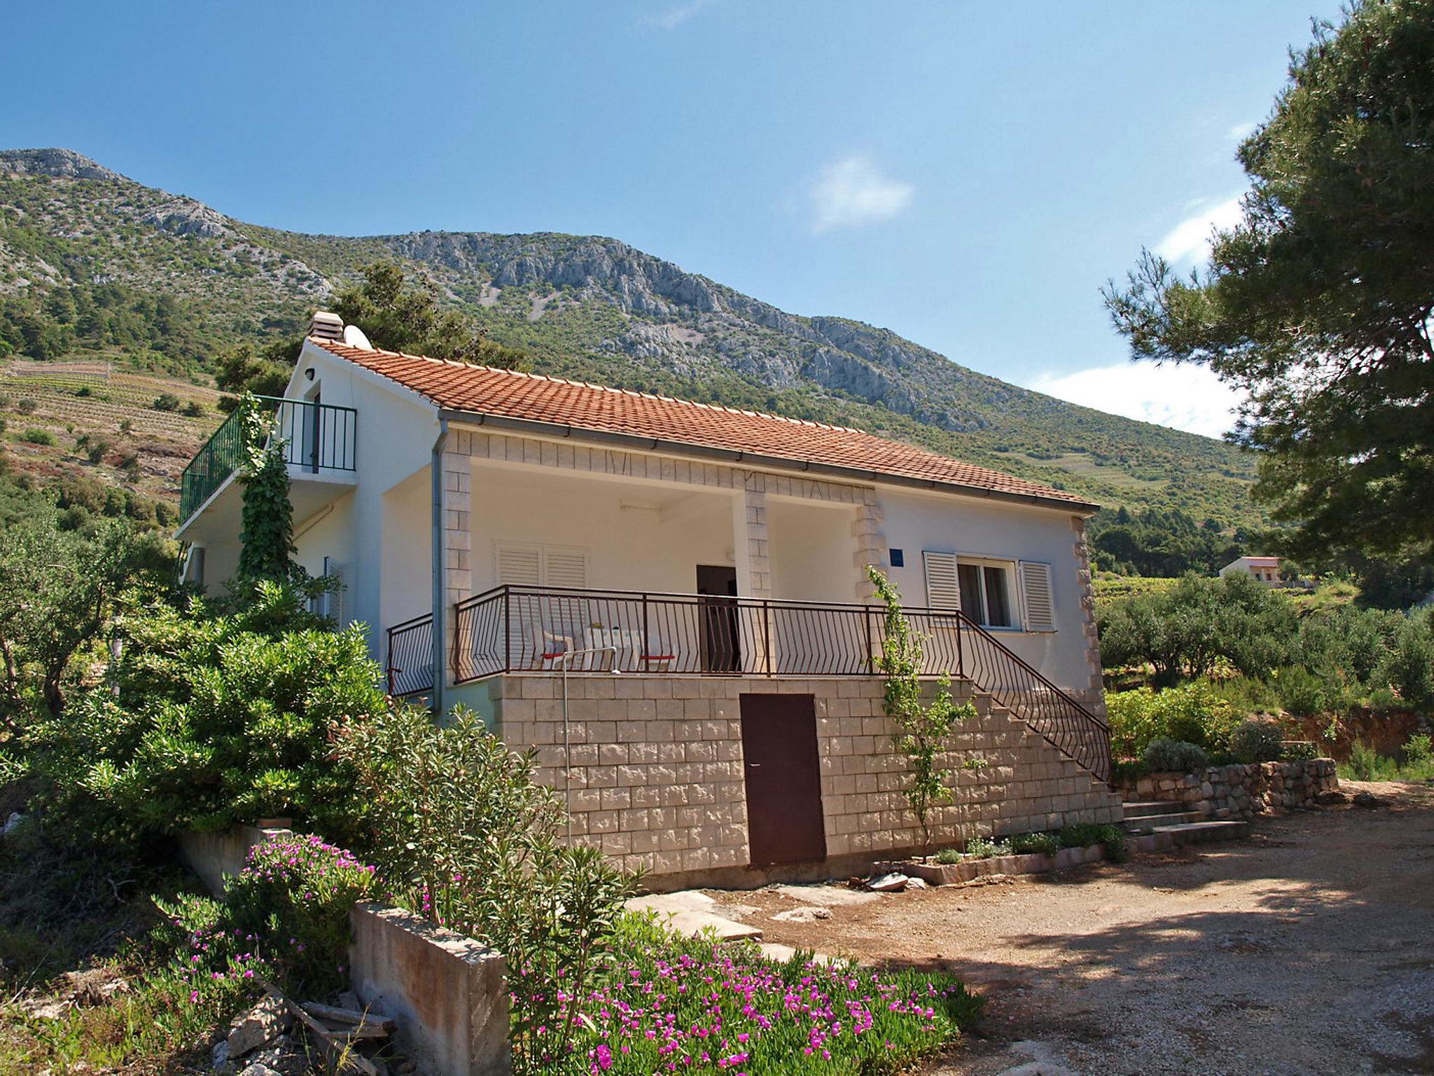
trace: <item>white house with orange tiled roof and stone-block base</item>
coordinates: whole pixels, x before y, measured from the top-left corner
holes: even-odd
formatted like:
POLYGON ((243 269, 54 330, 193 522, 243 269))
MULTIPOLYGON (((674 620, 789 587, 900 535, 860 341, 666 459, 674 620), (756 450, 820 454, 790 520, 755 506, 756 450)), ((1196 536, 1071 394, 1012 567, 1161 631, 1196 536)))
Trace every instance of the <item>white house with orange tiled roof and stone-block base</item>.
MULTIPOLYGON (((866 565, 981 710, 938 836, 1119 818, 1094 505, 859 430, 366 343, 315 316, 275 403, 298 560, 341 577, 330 611, 394 694, 536 747, 579 839, 673 884, 915 845, 866 565)), ((234 462, 225 426, 185 473, 205 585, 237 564, 234 462)))

